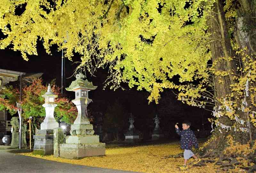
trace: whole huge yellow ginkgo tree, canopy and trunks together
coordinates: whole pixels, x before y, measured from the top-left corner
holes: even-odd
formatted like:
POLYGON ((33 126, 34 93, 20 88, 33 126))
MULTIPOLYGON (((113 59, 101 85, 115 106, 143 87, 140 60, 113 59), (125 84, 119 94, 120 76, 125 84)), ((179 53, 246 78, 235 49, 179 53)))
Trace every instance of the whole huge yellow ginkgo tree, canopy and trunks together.
POLYGON ((173 89, 213 111, 202 155, 221 162, 240 142, 253 161, 255 9, 255 0, 2 0, 0 48, 29 60, 38 40, 49 54, 58 45, 69 60, 81 55, 77 70, 108 68, 107 85, 145 89, 149 102, 173 89))

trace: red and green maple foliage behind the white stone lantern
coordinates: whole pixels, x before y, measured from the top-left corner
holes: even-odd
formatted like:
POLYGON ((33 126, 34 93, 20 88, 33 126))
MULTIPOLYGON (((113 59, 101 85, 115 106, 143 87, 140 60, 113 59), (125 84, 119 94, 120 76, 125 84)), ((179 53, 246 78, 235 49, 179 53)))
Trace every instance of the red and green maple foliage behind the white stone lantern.
MULTIPOLYGON (((37 123, 41 123, 45 117, 45 108, 43 94, 47 91, 47 86, 42 84, 42 79, 35 79, 30 85, 26 86, 22 90, 22 117, 28 119, 30 116, 37 120, 37 123)), ((56 104, 54 110, 54 117, 56 120, 62 122, 72 123, 77 115, 76 106, 71 103, 68 98, 64 97, 60 93, 60 88, 53 85, 52 91, 58 95, 56 98, 56 104)), ((16 102, 19 102, 19 90, 13 89, 11 86, 6 87, 3 91, 4 95, 0 98, 1 108, 6 108, 10 114, 17 113, 16 102)))

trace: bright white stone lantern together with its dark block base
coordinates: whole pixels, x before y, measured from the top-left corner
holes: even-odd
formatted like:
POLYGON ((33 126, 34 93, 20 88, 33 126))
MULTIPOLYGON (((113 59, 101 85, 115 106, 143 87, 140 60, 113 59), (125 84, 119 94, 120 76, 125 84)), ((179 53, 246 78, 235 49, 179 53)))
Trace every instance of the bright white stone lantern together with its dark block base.
POLYGON ((37 135, 34 135, 35 139, 33 154, 40 155, 52 155, 53 154, 53 129, 59 127, 59 123, 55 121, 53 113, 57 106, 55 104, 55 95, 50 87, 48 86, 47 92, 42 96, 45 98, 43 107, 45 108, 44 122, 41 123, 41 129, 37 131, 37 135))

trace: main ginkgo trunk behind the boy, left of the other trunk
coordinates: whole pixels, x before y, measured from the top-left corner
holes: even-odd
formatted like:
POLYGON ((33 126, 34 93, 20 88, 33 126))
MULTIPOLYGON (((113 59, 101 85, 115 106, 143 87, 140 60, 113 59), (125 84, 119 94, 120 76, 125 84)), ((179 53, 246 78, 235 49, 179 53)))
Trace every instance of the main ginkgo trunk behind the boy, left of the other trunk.
MULTIPOLYGON (((216 101, 216 107, 219 108, 221 103, 219 101, 223 100, 226 96, 230 96, 231 89, 230 85, 236 83, 234 81, 234 75, 237 75, 236 72, 236 64, 235 60, 226 60, 221 59, 222 57, 234 57, 234 51, 232 50, 230 38, 228 37, 228 27, 225 21, 225 14, 223 12, 222 2, 220 0, 216 0, 214 4, 214 10, 212 11, 211 16, 208 19, 209 31, 212 33, 212 37, 218 38, 221 42, 211 42, 211 52, 212 52, 212 63, 216 63, 215 71, 227 71, 229 72, 228 76, 217 76, 214 77, 215 84, 215 97, 220 99, 216 101), (230 74, 233 72, 233 74, 230 74), (221 82, 222 81, 222 82, 221 82), (221 83, 220 83, 221 82, 221 83)), ((241 104, 241 100, 237 101, 238 105, 241 104)), ((223 108, 218 109, 218 111, 226 111, 223 108)), ((243 120, 247 120, 247 114, 243 112, 239 112, 240 118, 243 120)), ((235 121, 230 120, 227 116, 223 116, 219 118, 219 122, 224 125, 233 126, 235 121)), ((236 142, 240 142, 245 144, 249 141, 250 136, 249 133, 246 132, 237 132, 232 130, 224 130, 220 126, 215 128, 213 133, 214 140, 205 147, 205 150, 202 152, 204 156, 211 157, 219 157, 220 161, 222 160, 223 150, 227 147, 228 136, 231 135, 236 142), (212 150, 210 150, 212 149, 212 150), (209 152, 211 151, 211 152, 209 152)))

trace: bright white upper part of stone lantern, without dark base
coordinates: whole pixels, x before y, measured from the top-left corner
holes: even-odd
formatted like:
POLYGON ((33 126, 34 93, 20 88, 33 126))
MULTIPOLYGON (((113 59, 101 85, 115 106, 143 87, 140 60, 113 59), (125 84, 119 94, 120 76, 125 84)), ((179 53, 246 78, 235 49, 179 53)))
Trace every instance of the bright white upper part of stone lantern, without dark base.
POLYGON ((59 123, 55 121, 55 118, 53 116, 54 109, 57 106, 55 104, 55 98, 58 97, 52 92, 50 84, 48 85, 48 90, 47 92, 42 95, 42 97, 45 98, 45 102, 43 104, 43 107, 45 108, 45 118, 44 122, 41 123, 41 130, 49 130, 49 129, 54 129, 59 127, 59 123))

